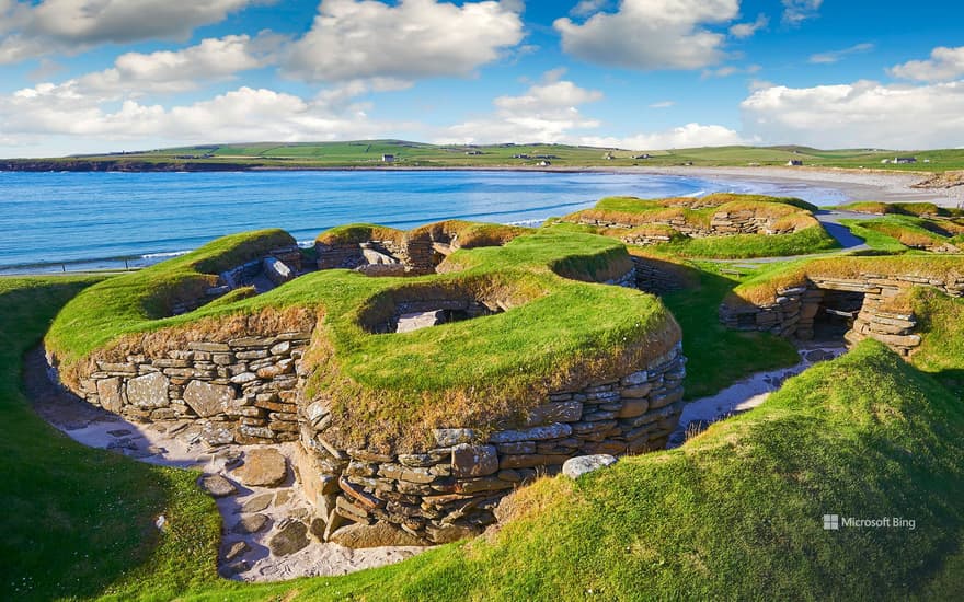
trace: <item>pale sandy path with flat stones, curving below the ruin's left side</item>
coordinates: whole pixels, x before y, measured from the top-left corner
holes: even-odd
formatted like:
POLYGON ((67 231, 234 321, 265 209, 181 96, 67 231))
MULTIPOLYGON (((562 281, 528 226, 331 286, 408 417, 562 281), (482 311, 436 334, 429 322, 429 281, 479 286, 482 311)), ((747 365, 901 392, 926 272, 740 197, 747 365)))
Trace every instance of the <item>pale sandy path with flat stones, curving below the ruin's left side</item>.
MULTIPOLYGON (((276 581, 307 576, 345 575, 398 563, 427 549, 352 549, 333 543, 322 543, 309 536, 310 543, 307 547, 286 556, 275 556, 269 552, 267 543, 282 521, 294 517, 310 522, 313 516, 290 467, 287 479, 280 487, 244 487, 231 476, 230 468, 238 464, 245 449, 250 448, 211 448, 198 437, 199 428, 186 420, 151 425, 127 421, 54 385, 47 378, 46 370, 43 350, 35 350, 26 357, 26 393, 33 401, 35 412, 71 439, 140 462, 193 468, 202 471, 206 476, 220 475, 231 482, 237 493, 216 500, 223 521, 218 558, 218 570, 223 577, 244 581, 276 581), (249 511, 244 511, 245 509, 249 511), (243 529, 239 529, 242 518, 250 520, 255 514, 266 518, 261 529, 255 533, 245 533, 243 529), (240 553, 228 558, 232 548, 240 553)), ((290 459, 295 444, 286 443, 275 449, 290 459)))

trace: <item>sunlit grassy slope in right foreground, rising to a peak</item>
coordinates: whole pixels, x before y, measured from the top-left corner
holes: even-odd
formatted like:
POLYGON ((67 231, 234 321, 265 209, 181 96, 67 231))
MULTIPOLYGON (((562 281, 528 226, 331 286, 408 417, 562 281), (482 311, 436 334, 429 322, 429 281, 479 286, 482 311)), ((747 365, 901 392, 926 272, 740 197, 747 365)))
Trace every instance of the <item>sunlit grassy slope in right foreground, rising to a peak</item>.
POLYGON ((537 482, 486 540, 345 578, 196 598, 930 599, 961 593, 943 562, 964 530, 962 495, 960 401, 864 341, 678 450, 537 482), (829 513, 915 529, 825 531, 829 513))

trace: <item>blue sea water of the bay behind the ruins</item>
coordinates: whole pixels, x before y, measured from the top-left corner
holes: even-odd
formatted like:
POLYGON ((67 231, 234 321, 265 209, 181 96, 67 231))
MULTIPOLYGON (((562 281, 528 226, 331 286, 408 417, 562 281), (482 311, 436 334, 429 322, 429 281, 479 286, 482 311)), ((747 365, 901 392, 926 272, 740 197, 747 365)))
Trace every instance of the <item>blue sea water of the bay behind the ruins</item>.
POLYGON ((444 219, 538 224, 605 196, 839 192, 695 177, 496 171, 0 172, 0 274, 141 266, 223 234, 283 228, 308 243, 351 222, 401 229, 444 219))

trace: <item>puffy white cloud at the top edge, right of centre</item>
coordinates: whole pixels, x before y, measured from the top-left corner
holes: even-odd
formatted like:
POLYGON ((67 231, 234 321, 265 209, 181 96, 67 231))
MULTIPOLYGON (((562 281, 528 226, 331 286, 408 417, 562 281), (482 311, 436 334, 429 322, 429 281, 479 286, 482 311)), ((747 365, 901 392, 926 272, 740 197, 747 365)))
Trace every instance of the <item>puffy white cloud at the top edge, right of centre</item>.
POLYGON ((738 0, 622 0, 619 12, 585 23, 558 19, 563 49, 600 65, 698 69, 725 57, 726 36, 704 27, 736 18, 738 0))

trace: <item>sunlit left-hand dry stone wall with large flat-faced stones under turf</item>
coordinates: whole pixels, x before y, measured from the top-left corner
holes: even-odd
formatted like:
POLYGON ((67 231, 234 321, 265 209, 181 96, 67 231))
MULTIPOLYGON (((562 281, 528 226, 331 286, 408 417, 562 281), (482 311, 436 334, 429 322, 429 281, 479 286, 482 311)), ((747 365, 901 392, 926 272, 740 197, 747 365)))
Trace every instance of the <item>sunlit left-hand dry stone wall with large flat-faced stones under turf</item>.
POLYGON ((97 370, 73 392, 136 421, 197 421, 210 444, 295 441, 299 369, 310 336, 197 341, 124 362, 96 360, 97 370))

